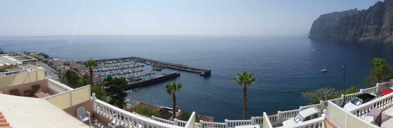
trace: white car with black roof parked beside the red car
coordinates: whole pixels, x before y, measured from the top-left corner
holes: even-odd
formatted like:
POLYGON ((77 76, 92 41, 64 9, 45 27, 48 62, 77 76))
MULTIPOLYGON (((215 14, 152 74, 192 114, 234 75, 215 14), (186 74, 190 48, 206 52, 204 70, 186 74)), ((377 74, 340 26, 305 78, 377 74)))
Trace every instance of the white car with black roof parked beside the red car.
POLYGON ((375 94, 363 93, 353 98, 351 102, 345 104, 344 109, 349 110, 377 98, 375 94))

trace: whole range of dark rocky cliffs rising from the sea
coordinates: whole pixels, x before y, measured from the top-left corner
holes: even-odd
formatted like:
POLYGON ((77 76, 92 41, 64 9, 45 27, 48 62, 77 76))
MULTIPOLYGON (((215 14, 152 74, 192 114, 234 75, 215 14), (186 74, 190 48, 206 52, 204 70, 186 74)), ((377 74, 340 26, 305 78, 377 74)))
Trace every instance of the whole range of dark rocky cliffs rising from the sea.
POLYGON ((314 27, 314 23, 309 38, 393 43, 393 0, 376 2, 369 9, 341 16, 330 34, 314 27), (311 36, 327 34, 328 37, 311 36))

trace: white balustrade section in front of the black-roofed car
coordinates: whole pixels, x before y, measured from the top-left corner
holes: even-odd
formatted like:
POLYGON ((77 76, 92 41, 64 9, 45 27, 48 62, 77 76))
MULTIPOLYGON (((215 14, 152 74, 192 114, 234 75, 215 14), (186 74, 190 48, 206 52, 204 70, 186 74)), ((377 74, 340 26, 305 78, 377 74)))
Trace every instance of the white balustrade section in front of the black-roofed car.
POLYGON ((367 102, 365 104, 359 105, 357 108, 354 108, 352 110, 348 110, 350 113, 353 113, 357 117, 361 117, 366 115, 371 108, 378 108, 379 110, 382 110, 384 108, 387 108, 393 104, 392 102, 393 98, 393 93, 389 93, 388 95, 385 95, 383 97, 380 97, 376 100, 367 102))

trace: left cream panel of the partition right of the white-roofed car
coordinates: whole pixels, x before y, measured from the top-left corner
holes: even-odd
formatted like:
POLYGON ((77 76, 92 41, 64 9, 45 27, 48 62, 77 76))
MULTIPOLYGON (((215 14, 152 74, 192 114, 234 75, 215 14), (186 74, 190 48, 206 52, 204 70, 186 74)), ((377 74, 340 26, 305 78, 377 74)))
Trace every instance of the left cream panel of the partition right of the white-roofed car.
POLYGON ((329 121, 336 125, 338 128, 345 128, 345 116, 346 114, 329 104, 329 121))

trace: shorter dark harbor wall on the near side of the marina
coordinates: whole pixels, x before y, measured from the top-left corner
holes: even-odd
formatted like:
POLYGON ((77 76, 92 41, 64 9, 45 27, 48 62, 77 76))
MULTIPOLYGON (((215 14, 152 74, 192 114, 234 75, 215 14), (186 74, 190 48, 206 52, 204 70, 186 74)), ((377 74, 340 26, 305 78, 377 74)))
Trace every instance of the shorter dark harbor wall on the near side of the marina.
POLYGON ((155 78, 152 78, 149 80, 143 80, 143 81, 139 81, 139 82, 130 83, 130 84, 128 84, 127 90, 132 90, 134 88, 139 88, 139 87, 147 86, 147 85, 154 84, 157 82, 161 82, 164 80, 173 79, 178 76, 180 76, 180 73, 173 72, 171 74, 163 75, 161 77, 155 77, 155 78))

